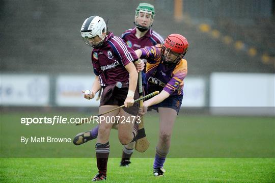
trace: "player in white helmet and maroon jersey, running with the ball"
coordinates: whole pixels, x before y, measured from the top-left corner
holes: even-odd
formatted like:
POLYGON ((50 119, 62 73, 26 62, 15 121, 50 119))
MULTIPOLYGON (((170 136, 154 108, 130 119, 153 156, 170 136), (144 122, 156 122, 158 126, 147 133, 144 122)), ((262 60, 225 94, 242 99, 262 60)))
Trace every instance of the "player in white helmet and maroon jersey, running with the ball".
MULTIPOLYGON (((94 98, 96 92, 103 88, 100 100, 99 114, 125 104, 124 108, 107 113, 106 116, 133 117, 136 116, 138 104, 134 99, 139 97, 136 90, 137 71, 133 64, 138 58, 134 50, 125 45, 123 40, 107 32, 103 18, 91 16, 81 27, 81 36, 85 43, 92 46, 92 64, 96 75, 92 92, 85 95, 87 99, 94 98), (120 87, 116 87, 120 82, 120 87)), ((131 118, 132 119, 132 118, 131 118)), ((92 179, 104 180, 107 174, 109 155, 109 134, 112 123, 101 122, 98 128, 98 138, 95 145, 98 173, 92 179)), ((137 134, 138 126, 133 123, 119 125, 119 140, 123 145, 130 143, 137 134)))

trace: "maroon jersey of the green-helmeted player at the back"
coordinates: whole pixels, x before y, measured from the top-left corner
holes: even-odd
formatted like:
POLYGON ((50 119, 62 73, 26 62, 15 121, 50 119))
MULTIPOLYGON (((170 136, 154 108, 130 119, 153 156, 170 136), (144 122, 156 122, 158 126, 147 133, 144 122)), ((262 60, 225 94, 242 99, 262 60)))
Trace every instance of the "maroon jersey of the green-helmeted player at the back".
POLYGON ((121 35, 121 38, 133 50, 140 49, 145 46, 154 46, 156 44, 163 43, 163 38, 152 29, 150 29, 143 37, 139 39, 135 37, 135 33, 136 33, 136 28, 133 28, 133 29, 128 29, 121 35))

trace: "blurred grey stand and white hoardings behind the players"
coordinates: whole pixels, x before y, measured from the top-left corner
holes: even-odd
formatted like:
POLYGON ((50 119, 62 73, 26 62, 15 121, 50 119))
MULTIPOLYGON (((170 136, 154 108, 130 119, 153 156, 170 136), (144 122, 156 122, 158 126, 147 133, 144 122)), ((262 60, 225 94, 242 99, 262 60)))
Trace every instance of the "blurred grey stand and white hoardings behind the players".
POLYGON ((94 73, 80 27, 98 15, 121 36, 146 2, 155 6, 154 31, 189 42, 182 106, 274 115, 274 0, 0 2, 1 106, 98 106, 81 96, 94 73))

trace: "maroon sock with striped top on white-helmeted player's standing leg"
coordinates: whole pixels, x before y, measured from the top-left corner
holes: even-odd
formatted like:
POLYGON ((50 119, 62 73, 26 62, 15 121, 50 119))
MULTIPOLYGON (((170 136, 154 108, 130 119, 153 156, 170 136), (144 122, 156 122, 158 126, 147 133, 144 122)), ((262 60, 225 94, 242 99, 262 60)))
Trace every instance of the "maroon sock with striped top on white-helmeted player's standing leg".
POLYGON ((110 152, 109 142, 107 142, 106 144, 97 143, 95 147, 98 173, 101 173, 102 175, 107 177, 107 162, 110 152))

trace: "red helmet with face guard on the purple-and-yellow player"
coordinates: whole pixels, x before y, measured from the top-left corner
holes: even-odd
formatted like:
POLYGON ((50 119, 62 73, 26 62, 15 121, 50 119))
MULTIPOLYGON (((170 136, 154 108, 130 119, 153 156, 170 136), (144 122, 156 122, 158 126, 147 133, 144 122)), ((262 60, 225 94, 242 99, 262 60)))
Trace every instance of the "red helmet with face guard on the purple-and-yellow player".
POLYGON ((180 34, 169 35, 162 45, 162 60, 165 63, 177 64, 188 49, 188 41, 180 34), (170 58, 169 58, 170 57, 170 58), (173 58, 172 58, 173 57, 173 58))

